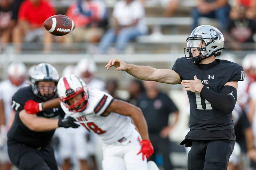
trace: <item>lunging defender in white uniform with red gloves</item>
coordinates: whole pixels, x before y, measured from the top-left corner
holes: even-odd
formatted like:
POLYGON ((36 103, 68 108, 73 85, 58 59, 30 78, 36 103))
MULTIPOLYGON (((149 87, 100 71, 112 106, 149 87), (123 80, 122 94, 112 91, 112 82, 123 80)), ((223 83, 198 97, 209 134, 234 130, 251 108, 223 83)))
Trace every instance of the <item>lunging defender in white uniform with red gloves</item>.
POLYGON ((77 75, 61 77, 57 90, 64 112, 102 139, 103 170, 148 169, 145 156, 151 156, 154 149, 138 107, 113 99, 106 92, 87 89, 77 75))

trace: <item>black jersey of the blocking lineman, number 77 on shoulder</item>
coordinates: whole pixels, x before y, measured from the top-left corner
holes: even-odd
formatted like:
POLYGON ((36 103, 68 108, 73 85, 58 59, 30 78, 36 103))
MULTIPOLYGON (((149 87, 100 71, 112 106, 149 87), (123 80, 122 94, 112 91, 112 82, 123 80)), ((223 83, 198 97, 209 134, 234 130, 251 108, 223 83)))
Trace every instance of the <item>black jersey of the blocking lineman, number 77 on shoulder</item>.
MULTIPOLYGON (((7 137, 10 141, 19 142, 30 147, 44 147, 50 143, 55 130, 35 132, 28 129, 27 126, 21 122, 19 112, 24 110, 25 102, 27 102, 29 99, 36 102, 42 102, 41 98, 34 95, 31 86, 20 88, 13 95, 12 108, 16 110, 16 114, 14 122, 7 133, 7 137)), ((38 117, 45 118, 58 118, 59 115, 64 118, 65 113, 61 108, 47 109, 37 113, 38 117)))

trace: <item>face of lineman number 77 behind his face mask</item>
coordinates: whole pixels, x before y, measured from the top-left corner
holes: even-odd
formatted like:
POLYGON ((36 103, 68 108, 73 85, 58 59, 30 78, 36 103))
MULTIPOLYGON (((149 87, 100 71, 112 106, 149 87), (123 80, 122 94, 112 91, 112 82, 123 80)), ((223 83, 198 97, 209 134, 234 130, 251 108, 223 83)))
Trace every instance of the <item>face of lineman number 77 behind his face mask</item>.
POLYGON ((53 89, 55 88, 54 81, 39 81, 37 86, 39 88, 41 96, 52 97, 54 95, 53 93, 53 89))

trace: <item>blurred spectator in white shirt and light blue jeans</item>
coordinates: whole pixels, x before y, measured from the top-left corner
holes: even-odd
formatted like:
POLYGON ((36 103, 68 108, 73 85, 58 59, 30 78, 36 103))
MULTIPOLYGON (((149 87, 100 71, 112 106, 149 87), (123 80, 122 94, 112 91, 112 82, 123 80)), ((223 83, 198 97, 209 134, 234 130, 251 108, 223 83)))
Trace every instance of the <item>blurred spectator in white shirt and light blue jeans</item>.
POLYGON ((113 9, 113 22, 112 28, 99 43, 101 53, 106 53, 114 42, 114 52, 123 53, 130 40, 147 34, 145 10, 138 0, 117 1, 113 9))

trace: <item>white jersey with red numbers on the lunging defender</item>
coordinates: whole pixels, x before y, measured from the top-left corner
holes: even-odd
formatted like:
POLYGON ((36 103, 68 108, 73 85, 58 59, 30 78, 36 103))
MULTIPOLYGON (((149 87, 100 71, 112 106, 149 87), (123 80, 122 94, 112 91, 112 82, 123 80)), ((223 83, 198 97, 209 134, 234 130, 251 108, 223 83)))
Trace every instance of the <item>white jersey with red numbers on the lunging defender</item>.
POLYGON ((127 144, 127 140, 135 129, 128 116, 109 113, 101 116, 113 101, 113 97, 98 89, 88 89, 88 104, 82 112, 71 112, 61 103, 64 112, 75 118, 90 132, 97 133, 105 144, 127 144))

